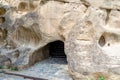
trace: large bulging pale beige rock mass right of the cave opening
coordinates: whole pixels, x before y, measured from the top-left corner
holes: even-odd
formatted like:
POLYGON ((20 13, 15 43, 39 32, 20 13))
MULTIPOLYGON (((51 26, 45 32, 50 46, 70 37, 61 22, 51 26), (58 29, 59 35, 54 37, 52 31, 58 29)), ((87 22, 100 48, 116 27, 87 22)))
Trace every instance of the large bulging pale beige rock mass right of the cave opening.
MULTIPOLYGON (((119 74, 119 33, 115 27, 115 30, 111 29, 117 18, 108 18, 107 10, 94 7, 89 7, 85 14, 65 42, 71 74, 76 80, 90 79, 89 75, 99 72, 119 74)), ((114 80, 111 76, 105 80, 114 80)), ((99 77, 92 76, 91 79, 99 77)))

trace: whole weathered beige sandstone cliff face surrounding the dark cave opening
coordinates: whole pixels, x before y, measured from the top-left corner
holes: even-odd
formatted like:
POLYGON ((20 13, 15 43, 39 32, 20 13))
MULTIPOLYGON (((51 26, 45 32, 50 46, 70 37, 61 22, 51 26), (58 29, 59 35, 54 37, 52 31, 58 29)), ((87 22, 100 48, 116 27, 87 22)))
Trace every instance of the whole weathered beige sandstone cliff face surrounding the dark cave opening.
POLYGON ((29 67, 61 40, 75 80, 120 80, 119 0, 0 2, 0 65, 29 67))

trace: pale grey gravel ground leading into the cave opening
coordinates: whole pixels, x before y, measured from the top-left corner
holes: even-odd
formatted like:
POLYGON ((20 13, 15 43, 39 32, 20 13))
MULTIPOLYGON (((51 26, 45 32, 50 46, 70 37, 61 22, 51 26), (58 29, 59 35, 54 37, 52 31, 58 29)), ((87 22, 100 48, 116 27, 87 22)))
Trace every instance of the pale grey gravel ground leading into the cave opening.
MULTIPOLYGON (((26 70, 19 71, 16 73, 38 78, 44 78, 48 80, 73 80, 68 74, 67 61, 65 58, 49 58, 33 65, 32 67, 26 70)), ((12 76, 11 79, 7 79, 6 77, 8 75, 2 76, 3 77, 1 79, 0 74, 0 80, 27 80, 20 77, 19 79, 16 79, 15 77, 14 79, 12 79, 12 76)))

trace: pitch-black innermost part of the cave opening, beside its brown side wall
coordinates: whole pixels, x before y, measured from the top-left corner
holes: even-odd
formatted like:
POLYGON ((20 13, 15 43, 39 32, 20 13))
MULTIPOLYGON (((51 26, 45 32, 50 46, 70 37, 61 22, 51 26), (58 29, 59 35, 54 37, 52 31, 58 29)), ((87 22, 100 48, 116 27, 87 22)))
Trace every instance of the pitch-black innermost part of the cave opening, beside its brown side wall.
POLYGON ((49 43, 49 56, 52 58, 66 58, 64 42, 54 41, 49 43))

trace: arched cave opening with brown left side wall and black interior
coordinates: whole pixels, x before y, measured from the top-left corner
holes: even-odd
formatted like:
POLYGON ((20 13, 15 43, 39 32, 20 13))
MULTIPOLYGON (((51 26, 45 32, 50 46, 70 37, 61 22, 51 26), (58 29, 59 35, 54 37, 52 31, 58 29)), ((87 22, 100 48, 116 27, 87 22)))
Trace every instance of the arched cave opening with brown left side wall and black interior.
POLYGON ((43 48, 40 48, 37 51, 35 51, 35 53, 30 58, 30 62, 31 64, 34 64, 38 61, 53 58, 57 60, 64 59, 67 62, 67 57, 64 51, 64 42, 58 40, 48 43, 43 48))

